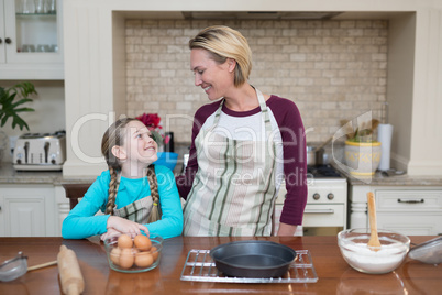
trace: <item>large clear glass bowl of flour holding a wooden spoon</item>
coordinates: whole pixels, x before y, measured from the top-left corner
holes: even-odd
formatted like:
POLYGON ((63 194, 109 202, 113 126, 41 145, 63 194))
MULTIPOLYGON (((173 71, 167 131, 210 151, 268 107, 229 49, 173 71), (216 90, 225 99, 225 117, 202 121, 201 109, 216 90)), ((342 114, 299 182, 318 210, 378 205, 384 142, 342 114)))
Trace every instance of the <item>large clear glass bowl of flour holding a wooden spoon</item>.
POLYGON ((380 249, 368 248, 369 229, 347 229, 338 233, 338 245, 344 260, 356 271, 369 274, 389 273, 398 267, 410 249, 410 239, 399 232, 378 229, 380 249))

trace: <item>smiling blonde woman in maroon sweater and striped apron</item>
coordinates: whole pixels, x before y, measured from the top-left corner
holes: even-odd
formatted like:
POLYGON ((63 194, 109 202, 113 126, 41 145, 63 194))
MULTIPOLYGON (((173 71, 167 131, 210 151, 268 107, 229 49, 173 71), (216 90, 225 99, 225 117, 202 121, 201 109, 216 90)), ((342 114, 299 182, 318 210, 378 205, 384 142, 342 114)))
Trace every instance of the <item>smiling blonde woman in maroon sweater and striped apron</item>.
POLYGON ((292 236, 307 201, 306 143, 296 105, 248 84, 245 37, 210 26, 189 41, 195 85, 212 103, 195 114, 189 162, 177 177, 185 236, 269 236, 283 179, 278 236, 292 236), (221 100, 219 100, 222 98, 221 100))

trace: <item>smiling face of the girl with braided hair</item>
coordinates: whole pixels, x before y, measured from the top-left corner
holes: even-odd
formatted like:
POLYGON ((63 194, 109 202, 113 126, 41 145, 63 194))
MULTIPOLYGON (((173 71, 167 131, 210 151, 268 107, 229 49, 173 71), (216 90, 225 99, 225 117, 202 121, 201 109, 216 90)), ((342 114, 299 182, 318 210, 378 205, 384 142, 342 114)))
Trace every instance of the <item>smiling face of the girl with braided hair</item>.
POLYGON ((151 164, 158 156, 158 145, 151 136, 151 131, 140 121, 131 121, 125 127, 125 141, 122 148, 122 160, 132 163, 151 164), (124 159, 125 157, 125 159, 124 159))

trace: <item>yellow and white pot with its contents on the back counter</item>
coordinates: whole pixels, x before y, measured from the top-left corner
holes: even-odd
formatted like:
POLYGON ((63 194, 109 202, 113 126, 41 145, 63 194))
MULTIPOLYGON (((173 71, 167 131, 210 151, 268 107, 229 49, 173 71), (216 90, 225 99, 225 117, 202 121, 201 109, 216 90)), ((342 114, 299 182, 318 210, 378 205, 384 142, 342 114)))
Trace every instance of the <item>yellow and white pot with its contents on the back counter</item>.
MULTIPOLYGON (((376 119, 362 123, 356 130, 347 132, 344 159, 350 174, 357 176, 374 175, 380 162, 380 142, 373 139, 379 121, 376 119)), ((351 122, 345 124, 351 127, 351 122)))

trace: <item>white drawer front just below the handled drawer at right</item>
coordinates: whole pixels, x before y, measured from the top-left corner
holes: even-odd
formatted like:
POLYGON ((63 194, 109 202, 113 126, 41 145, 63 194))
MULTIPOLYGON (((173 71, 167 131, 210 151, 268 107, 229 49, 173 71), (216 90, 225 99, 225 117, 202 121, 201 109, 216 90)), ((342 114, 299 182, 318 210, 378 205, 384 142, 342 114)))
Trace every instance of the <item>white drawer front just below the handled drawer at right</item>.
POLYGON ((442 234, 442 214, 382 214, 377 212, 377 228, 407 236, 442 234))

